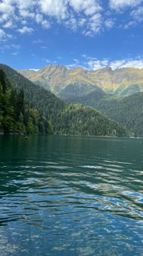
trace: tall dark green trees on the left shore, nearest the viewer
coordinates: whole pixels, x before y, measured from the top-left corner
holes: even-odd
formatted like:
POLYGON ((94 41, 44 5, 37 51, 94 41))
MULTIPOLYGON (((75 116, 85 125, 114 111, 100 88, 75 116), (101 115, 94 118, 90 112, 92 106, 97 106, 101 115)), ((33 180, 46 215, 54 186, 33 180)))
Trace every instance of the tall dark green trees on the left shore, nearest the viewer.
POLYGON ((47 119, 24 101, 24 90, 17 93, 0 69, 0 132, 52 133, 47 119))

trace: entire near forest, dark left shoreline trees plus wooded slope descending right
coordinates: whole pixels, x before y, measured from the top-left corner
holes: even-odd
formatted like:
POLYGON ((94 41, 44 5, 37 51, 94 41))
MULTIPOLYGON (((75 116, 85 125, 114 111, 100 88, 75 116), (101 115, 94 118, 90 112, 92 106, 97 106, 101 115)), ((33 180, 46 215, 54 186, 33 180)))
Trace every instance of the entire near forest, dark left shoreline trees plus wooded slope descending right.
POLYGON ((0 75, 1 130, 5 133, 127 136, 123 126, 95 108, 67 104, 9 66, 0 68, 4 73, 0 75))

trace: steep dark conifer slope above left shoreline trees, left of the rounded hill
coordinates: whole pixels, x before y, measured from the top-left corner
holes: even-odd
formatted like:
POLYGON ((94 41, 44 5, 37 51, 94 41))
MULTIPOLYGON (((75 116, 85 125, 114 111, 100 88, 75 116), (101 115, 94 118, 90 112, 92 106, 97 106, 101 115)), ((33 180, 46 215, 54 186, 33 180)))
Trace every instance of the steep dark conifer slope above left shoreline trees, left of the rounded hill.
POLYGON ((64 108, 64 102, 57 98, 55 94, 33 84, 30 80, 7 65, 0 64, 0 68, 7 74, 13 88, 16 88, 17 91, 19 91, 20 88, 24 88, 25 99, 28 104, 30 107, 38 108, 41 115, 53 120, 55 119, 55 113, 64 108))

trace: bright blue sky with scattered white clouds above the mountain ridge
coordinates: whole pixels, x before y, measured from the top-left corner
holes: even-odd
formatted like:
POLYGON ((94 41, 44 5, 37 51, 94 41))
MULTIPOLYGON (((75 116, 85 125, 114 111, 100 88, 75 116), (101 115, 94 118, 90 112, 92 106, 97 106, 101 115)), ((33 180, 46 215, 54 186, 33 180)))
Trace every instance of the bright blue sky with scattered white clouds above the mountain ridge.
POLYGON ((143 68, 143 0, 0 0, 1 63, 143 68))

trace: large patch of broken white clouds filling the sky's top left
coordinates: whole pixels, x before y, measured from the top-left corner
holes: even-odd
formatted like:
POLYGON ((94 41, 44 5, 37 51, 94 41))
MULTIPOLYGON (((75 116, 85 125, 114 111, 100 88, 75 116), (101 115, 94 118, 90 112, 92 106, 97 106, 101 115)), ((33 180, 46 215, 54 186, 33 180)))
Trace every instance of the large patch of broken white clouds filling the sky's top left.
POLYGON ((4 28, 17 25, 24 34, 32 32, 33 21, 44 29, 58 22, 74 31, 82 27, 82 34, 93 36, 104 26, 98 20, 102 10, 101 0, 1 0, 0 23, 4 28))

